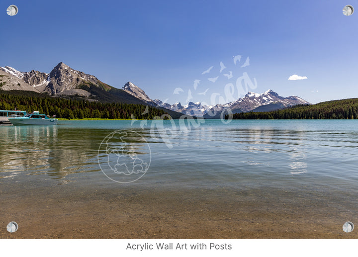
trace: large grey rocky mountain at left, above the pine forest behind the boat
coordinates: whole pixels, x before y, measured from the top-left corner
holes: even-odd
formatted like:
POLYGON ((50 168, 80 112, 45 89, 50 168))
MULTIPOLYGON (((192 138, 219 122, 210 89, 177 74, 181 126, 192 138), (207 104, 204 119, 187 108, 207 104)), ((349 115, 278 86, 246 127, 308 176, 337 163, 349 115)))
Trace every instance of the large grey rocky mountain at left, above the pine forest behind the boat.
POLYGON ((109 86, 92 75, 76 71, 59 63, 50 73, 19 72, 0 67, 2 90, 30 90, 58 97, 79 97, 101 102, 145 104, 122 89, 109 86))

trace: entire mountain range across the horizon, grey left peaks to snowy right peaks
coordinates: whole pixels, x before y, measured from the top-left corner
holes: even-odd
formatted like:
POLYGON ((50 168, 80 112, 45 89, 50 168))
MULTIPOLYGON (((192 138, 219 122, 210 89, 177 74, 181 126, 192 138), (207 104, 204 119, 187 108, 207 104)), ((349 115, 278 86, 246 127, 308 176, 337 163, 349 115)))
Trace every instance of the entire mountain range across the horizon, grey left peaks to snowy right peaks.
POLYGON ((27 90, 57 97, 76 97, 101 102, 125 102, 155 106, 165 109, 172 116, 180 114, 204 118, 219 118, 226 108, 233 113, 248 111, 270 111, 297 104, 310 104, 298 96, 282 97, 272 90, 264 93, 248 92, 244 97, 226 104, 203 105, 188 102, 182 105, 152 100, 143 89, 127 82, 122 89, 109 86, 93 75, 76 71, 59 63, 50 73, 39 71, 19 72, 14 68, 0 67, 0 89, 27 90))

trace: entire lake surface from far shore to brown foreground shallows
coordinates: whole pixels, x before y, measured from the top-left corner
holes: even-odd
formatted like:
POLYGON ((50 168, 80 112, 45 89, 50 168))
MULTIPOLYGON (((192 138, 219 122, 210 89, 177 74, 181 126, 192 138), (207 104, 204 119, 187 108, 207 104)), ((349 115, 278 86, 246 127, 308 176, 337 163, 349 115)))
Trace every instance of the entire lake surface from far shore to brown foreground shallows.
POLYGON ((144 122, 0 126, 1 237, 358 238, 358 121, 144 122))

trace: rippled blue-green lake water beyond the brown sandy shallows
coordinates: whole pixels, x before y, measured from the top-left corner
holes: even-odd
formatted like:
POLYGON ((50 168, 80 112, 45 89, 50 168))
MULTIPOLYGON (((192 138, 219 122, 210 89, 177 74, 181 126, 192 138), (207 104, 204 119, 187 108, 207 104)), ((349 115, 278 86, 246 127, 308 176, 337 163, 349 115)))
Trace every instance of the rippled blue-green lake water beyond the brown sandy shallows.
MULTIPOLYGON (((0 126, 0 183, 3 187, 279 188, 308 197, 319 191, 357 198, 357 120, 132 123, 0 126), (128 169, 115 173, 125 169, 123 164, 128 169), (131 170, 131 165, 139 170, 131 170)), ((357 208, 356 202, 350 204, 357 208)))

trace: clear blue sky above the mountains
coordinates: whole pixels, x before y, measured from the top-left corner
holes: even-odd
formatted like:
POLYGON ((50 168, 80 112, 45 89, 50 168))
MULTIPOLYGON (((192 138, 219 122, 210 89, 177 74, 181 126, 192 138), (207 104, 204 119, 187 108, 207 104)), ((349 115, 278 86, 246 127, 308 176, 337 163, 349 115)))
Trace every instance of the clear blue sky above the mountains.
POLYGON ((258 93, 270 88, 312 103, 358 97, 358 0, 1 0, 1 8, 0 66, 19 71, 49 73, 64 62, 169 103, 185 103, 189 89, 190 101, 224 101, 229 83, 238 98, 243 73, 258 93), (10 4, 17 15, 6 14, 10 4), (357 12, 344 16, 346 4, 357 12), (294 74, 308 79, 289 81, 294 74))

